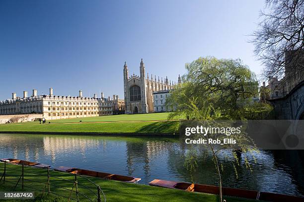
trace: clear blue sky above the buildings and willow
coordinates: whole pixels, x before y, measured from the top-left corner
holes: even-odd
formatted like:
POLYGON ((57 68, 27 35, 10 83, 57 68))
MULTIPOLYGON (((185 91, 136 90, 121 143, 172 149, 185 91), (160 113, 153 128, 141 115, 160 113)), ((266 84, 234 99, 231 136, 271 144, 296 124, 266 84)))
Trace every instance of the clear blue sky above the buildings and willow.
POLYGON ((264 0, 1 0, 0 100, 31 95, 119 95, 123 65, 177 80, 199 56, 240 58, 259 73, 247 43, 264 0))

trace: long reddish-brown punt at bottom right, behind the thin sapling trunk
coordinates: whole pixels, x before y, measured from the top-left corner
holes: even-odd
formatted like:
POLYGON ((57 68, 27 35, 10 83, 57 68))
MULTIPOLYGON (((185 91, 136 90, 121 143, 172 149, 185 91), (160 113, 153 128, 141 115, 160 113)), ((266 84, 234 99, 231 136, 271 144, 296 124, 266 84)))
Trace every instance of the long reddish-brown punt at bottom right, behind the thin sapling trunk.
MULTIPOLYGON (((192 184, 184 182, 174 182, 167 180, 153 180, 149 183, 151 186, 165 187, 170 189, 179 189, 189 192, 201 192, 208 194, 219 194, 220 190, 217 186, 192 184)), ((234 189, 223 187, 222 192, 224 196, 239 197, 246 199, 255 199, 268 202, 304 202, 303 197, 295 197, 290 195, 258 192, 252 190, 234 189)))

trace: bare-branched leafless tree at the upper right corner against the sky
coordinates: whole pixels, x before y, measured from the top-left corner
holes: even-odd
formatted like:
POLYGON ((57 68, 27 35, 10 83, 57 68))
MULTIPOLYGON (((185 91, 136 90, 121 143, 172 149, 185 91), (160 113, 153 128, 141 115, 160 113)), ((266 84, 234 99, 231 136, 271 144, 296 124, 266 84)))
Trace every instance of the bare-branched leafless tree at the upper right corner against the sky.
POLYGON ((265 66, 263 79, 304 70, 304 0, 266 0, 260 17, 251 42, 265 66))

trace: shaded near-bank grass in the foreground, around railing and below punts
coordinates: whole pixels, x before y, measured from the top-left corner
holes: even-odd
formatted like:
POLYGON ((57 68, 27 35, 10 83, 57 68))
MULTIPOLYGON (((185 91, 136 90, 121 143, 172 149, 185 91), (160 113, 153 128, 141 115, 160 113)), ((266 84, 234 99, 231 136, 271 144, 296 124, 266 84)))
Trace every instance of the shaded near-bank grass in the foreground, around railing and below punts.
MULTIPOLYGON (((3 173, 3 165, 4 163, 0 163, 0 175, 3 173)), ((7 164, 7 168, 12 168, 15 170, 7 169, 7 174, 10 177, 6 177, 6 182, 3 184, 0 183, 0 191, 12 191, 14 185, 17 182, 18 177, 21 174, 21 166, 17 165, 11 165, 7 164), (11 176, 15 176, 11 177, 11 176)), ((32 168, 32 167, 24 167, 25 171, 31 172, 31 173, 25 173, 24 174, 24 185, 26 186, 23 191, 33 191, 33 189, 41 189, 43 190, 44 185, 32 182, 28 180, 35 180, 38 182, 46 182, 47 178, 46 176, 38 176, 39 174, 46 174, 45 169, 38 169, 38 168, 32 168)), ((74 176, 68 173, 64 172, 57 172, 57 171, 51 171, 50 172, 51 179, 50 183, 53 185, 56 185, 58 187, 63 187, 66 189, 71 189, 73 187, 73 181, 74 176), (69 181, 64 181, 58 178, 54 177, 60 177, 69 181)), ((139 177, 139 176, 137 176, 139 177)), ((185 191, 180 190, 173 190, 173 189, 166 189, 166 188, 158 188, 158 187, 152 187, 147 185, 137 185, 137 184, 130 184, 130 183, 123 183, 118 181, 112 181, 112 180, 103 180, 100 178, 93 178, 93 177, 87 177, 91 181, 93 181, 96 185, 99 185, 105 196, 106 200, 109 202, 218 202, 219 197, 217 195, 210 195, 210 194, 203 194, 203 193, 189 193, 185 191)), ((85 185, 92 191, 96 190, 96 187, 90 183, 87 179, 78 177, 78 189, 79 192, 85 196, 88 196, 89 199, 96 200, 96 197, 94 197, 94 194, 87 189, 84 189, 81 185, 85 185)), ((65 190, 63 188, 58 188, 55 186, 51 186, 51 192, 56 193, 65 197, 70 196, 70 191, 65 190)), ((21 191, 21 186, 18 185, 16 188, 16 191, 21 191)), ((96 191, 94 191, 96 192, 96 191)), ((36 191, 36 193, 40 193, 39 191, 36 191)), ((80 201, 86 202, 89 201, 84 197, 81 197, 80 195, 80 201)), ((72 194, 72 198, 76 198, 75 193, 72 194)), ((43 197, 42 197, 43 199, 43 197)), ((63 199, 63 198, 60 198, 63 199)), ((60 199, 56 199, 58 201, 61 201, 60 199)), ((254 200, 245 200, 245 199, 238 199, 238 198, 228 198, 225 197, 228 202, 253 202, 254 200)), ((43 200, 41 200, 42 202, 43 200)), ((67 201, 67 200, 63 200, 67 201)), ((38 201, 37 201, 38 202, 38 201)), ((48 200, 45 200, 45 202, 48 202, 48 200)))

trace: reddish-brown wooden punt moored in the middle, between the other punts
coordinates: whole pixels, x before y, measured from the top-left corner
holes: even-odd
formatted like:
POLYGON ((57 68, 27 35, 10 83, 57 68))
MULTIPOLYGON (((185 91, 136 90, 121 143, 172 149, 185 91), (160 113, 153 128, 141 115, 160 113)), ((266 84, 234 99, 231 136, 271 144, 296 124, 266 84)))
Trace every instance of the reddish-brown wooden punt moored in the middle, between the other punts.
POLYGON ((129 182, 129 183, 137 183, 138 181, 141 180, 141 178, 134 178, 134 177, 124 176, 124 175, 116 175, 116 174, 111 174, 111 173, 97 172, 97 171, 92 171, 92 170, 84 170, 84 169, 64 167, 64 166, 54 168, 54 170, 69 172, 69 173, 78 174, 78 175, 99 177, 99 178, 104 178, 104 179, 108 179, 108 180, 129 182))

